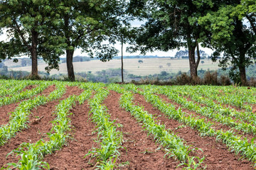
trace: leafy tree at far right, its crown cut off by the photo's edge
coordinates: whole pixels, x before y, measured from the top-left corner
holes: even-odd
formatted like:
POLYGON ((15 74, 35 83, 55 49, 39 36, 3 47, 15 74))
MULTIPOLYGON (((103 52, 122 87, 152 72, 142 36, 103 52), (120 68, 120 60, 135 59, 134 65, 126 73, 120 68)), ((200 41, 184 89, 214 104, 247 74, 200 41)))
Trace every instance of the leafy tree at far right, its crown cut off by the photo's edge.
MULTIPOLYGON (((230 4, 220 7, 218 11, 208 13, 199 20, 199 23, 206 26, 212 34, 210 38, 205 38, 204 42, 215 50, 212 55, 213 61, 220 58, 219 65, 224 69, 231 64, 230 76, 239 80, 242 86, 246 86, 246 67, 256 59, 256 35, 253 23, 247 27, 235 12, 238 6, 240 6, 239 1, 230 1, 230 4), (221 52, 223 56, 220 56, 221 52), (239 70, 239 74, 235 74, 236 69, 239 70)), ((247 15, 255 21, 252 13, 247 15)))

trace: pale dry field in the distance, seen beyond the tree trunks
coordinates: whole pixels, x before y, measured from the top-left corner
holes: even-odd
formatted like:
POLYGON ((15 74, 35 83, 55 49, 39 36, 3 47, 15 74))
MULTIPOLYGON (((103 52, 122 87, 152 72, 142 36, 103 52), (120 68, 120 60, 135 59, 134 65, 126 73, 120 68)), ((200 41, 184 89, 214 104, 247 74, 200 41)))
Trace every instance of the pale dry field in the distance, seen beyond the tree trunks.
MULTIPOLYGON (((203 60, 204 63, 200 63, 198 69, 218 69, 218 63, 212 62, 211 60, 203 60)), ((75 72, 98 72, 103 69, 117 69, 121 67, 121 60, 110 60, 110 62, 100 62, 99 60, 92 60, 90 62, 74 62, 75 72)), ((40 63, 38 70, 45 72, 45 67, 47 65, 40 63)), ((149 74, 159 74, 162 71, 166 72, 188 72, 189 64, 188 60, 171 60, 169 58, 153 58, 153 59, 124 59, 124 69, 129 72, 129 74, 135 75, 149 75, 149 74), (143 63, 138 61, 142 60, 143 63), (167 63, 171 65, 168 66, 167 63)), ((15 71, 28 71, 31 72, 31 66, 29 67, 16 67, 9 70, 15 71)), ((60 64, 60 70, 53 69, 50 74, 67 74, 66 64, 60 64)))

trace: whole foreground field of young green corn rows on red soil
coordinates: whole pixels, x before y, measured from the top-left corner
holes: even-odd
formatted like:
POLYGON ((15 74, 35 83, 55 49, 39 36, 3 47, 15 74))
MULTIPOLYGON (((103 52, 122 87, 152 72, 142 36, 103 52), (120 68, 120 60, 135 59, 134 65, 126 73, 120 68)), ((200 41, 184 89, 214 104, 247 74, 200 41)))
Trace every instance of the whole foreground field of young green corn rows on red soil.
POLYGON ((256 89, 0 80, 1 169, 254 169, 256 89))

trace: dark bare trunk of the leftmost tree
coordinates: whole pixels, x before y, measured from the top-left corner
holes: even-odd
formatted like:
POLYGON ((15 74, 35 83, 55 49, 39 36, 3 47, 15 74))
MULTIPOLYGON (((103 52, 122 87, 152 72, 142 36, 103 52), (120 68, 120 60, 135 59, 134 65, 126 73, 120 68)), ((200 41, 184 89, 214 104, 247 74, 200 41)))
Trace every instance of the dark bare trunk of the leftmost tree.
POLYGON ((31 45, 31 60, 32 70, 31 77, 38 77, 38 60, 37 60, 37 44, 38 44, 38 33, 32 30, 32 45, 31 45))

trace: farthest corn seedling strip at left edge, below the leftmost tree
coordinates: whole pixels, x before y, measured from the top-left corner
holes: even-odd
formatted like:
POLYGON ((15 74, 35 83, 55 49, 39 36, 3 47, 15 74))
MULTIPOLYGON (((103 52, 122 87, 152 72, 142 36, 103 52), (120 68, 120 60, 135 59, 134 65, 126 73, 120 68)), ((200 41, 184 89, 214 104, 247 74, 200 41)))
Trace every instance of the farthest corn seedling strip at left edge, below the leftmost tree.
POLYGON ((1 90, 0 90, 0 96, 4 97, 7 95, 12 95, 12 94, 16 94, 17 92, 23 90, 26 86, 28 85, 34 85, 37 84, 38 81, 17 81, 17 82, 13 82, 14 86, 11 86, 11 88, 8 88, 6 86, 1 86, 1 90))

